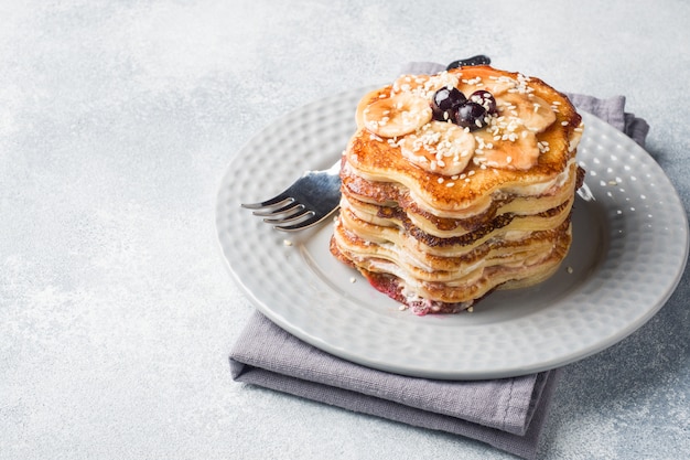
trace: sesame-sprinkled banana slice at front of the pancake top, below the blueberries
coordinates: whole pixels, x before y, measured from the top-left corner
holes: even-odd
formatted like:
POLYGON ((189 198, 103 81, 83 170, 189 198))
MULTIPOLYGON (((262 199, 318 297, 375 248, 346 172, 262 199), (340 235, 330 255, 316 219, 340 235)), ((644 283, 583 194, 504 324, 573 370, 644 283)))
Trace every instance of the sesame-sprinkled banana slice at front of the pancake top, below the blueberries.
POLYGON ((460 174, 470 163, 474 147, 468 130, 444 121, 431 121, 400 142, 400 151, 410 162, 443 175, 460 174))

